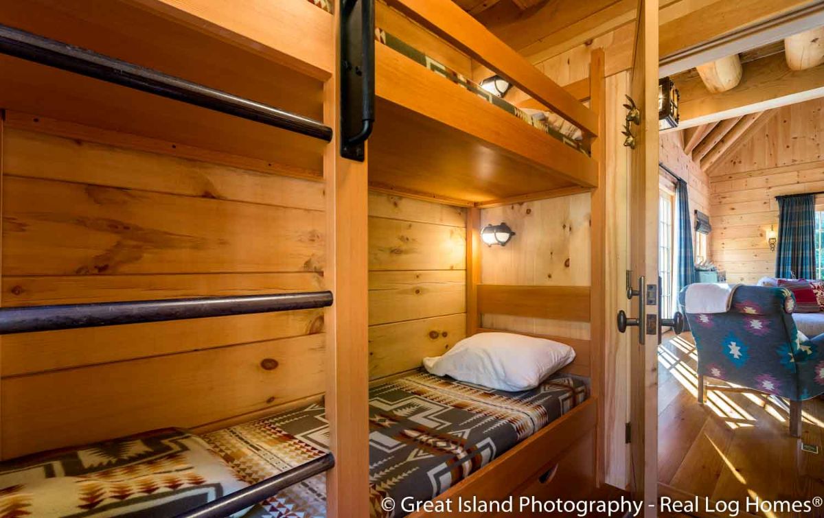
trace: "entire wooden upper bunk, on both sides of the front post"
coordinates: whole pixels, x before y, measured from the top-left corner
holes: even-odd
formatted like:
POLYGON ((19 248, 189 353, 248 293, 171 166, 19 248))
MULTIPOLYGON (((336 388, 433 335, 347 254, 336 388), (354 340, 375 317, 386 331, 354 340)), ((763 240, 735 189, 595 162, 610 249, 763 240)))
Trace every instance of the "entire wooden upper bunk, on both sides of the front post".
MULTIPOLYGON (((323 121, 324 84, 335 71, 335 2, 242 3, 14 0, 0 5, 0 24, 323 121)), ((589 147, 598 117, 576 96, 452 2, 392 0, 387 7, 378 0, 377 8, 396 8, 498 72, 580 138, 559 138, 464 77, 455 81, 460 74, 434 73, 415 59, 417 50, 404 52, 403 42, 378 26, 372 187, 472 205, 597 186, 589 147)), ((255 170, 323 175, 322 139, 21 58, 0 55, 0 68, 7 124, 59 119, 219 152, 255 170)))

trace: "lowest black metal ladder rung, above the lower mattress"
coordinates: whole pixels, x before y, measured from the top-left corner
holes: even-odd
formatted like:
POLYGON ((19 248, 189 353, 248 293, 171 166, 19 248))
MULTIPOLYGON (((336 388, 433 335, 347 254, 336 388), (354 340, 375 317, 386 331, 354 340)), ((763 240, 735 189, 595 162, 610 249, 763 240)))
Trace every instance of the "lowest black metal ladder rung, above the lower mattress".
POLYGON ((301 464, 293 469, 288 469, 274 475, 274 477, 261 480, 248 488, 233 492, 220 497, 203 506, 199 506, 191 511, 186 511, 176 518, 224 518, 237 511, 242 511, 246 507, 254 506, 256 503, 264 502, 270 497, 283 491, 283 489, 293 484, 302 482, 307 478, 321 474, 335 466, 335 457, 327 453, 315 460, 310 460, 306 464, 301 464))

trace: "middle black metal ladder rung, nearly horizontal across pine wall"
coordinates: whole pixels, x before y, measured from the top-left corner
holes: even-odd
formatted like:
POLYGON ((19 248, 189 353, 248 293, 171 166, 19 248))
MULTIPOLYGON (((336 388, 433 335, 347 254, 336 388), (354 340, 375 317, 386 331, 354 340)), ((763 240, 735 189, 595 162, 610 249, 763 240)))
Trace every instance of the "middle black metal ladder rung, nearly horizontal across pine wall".
POLYGON ((307 310, 331 306, 332 301, 332 292, 303 292, 4 307, 0 308, 0 334, 307 310))

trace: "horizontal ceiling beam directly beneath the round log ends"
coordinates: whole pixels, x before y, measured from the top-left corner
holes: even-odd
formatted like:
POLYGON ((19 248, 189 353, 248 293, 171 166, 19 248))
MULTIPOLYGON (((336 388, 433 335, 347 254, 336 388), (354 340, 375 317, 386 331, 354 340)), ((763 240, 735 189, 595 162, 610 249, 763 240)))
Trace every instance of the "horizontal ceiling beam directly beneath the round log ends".
POLYGON ((673 77, 681 92, 680 128, 753 114, 824 96, 824 67, 793 72, 784 56, 774 54, 744 64, 741 83, 710 94, 700 77, 673 77))

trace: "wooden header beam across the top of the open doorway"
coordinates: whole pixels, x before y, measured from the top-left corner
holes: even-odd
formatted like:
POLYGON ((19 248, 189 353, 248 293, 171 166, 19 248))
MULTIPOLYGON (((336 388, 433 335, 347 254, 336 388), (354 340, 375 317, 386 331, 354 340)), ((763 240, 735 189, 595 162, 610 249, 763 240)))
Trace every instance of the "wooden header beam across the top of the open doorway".
POLYGON ((662 24, 658 77, 824 26, 824 2, 721 0, 662 24))

